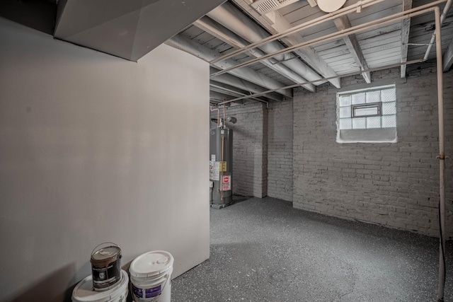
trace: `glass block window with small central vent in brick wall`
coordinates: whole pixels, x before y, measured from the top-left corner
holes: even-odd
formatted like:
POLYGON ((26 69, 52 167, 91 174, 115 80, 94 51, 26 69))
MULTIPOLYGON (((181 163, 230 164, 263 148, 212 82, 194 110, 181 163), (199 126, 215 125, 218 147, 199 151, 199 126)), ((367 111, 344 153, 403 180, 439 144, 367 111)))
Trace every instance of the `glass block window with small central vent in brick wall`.
POLYGON ((338 93, 338 130, 396 128, 396 88, 338 93))

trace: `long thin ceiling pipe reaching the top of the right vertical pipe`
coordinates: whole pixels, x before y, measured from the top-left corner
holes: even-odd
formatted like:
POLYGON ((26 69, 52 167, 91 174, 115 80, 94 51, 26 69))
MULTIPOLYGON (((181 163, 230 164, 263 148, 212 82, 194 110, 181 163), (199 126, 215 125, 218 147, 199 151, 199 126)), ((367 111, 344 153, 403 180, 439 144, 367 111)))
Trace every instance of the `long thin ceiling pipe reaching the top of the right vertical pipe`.
MULTIPOLYGON (((236 66, 232 66, 232 67, 226 68, 226 69, 224 69, 222 71, 219 71, 219 72, 217 72, 215 74, 211 74, 211 76, 217 76, 219 74, 223 74, 225 72, 231 71, 232 69, 236 69, 236 68, 243 67, 243 66, 248 66, 248 65, 254 64, 254 63, 256 63, 256 62, 258 62, 260 60, 269 59, 269 58, 275 57, 275 56, 277 56, 279 54, 285 54, 285 53, 288 53, 288 52, 292 52, 292 51, 297 50, 299 48, 308 47, 308 46, 311 46, 311 45, 316 45, 316 44, 321 43, 321 42, 328 42, 328 41, 331 41, 331 40, 337 40, 340 37, 345 37, 346 35, 351 35, 353 33, 360 33, 360 32, 362 32, 364 30, 367 30, 367 29, 370 29, 370 28, 374 28, 376 25, 381 25, 382 26, 382 25, 386 25, 386 24, 395 23, 396 21, 400 21, 400 20, 403 20, 403 19, 406 19, 406 18, 412 18, 414 16, 419 16, 419 15, 421 15, 423 13, 428 13, 430 11, 434 11, 434 8, 432 8, 432 7, 437 5, 437 4, 440 4, 442 2, 445 2, 445 0, 435 1, 435 2, 432 2, 431 4, 425 4, 423 6, 418 6, 417 8, 412 8, 412 9, 410 9, 408 11, 402 11, 402 12, 399 12, 399 13, 394 13, 391 16, 386 16, 384 18, 380 18, 380 19, 375 20, 375 21, 370 21, 370 22, 363 23, 363 24, 360 24, 360 25, 352 26, 350 28, 346 28, 344 30, 340 30, 337 33, 331 33, 331 34, 325 35, 323 37, 318 37, 318 38, 315 38, 315 39, 307 41, 307 42, 303 42, 303 43, 299 43, 297 45, 293 45, 292 47, 287 47, 284 50, 280 50, 279 52, 273 52, 271 54, 267 54, 264 57, 260 57, 258 59, 251 59, 251 60, 249 60, 247 62, 243 62, 241 64, 237 64, 236 66)), ((329 78, 325 78, 325 79, 329 79, 329 78)))

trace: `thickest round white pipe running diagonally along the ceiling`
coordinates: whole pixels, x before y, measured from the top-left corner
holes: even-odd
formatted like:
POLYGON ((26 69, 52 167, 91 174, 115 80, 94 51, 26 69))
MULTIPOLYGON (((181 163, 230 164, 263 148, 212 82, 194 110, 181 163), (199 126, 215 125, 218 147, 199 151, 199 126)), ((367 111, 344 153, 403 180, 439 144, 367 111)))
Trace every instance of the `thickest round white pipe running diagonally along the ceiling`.
MULTIPOLYGON (((210 11, 210 13, 207 13, 207 16, 224 25, 224 27, 228 28, 232 32, 237 33, 248 42, 258 42, 270 36, 269 33, 263 30, 263 28, 260 28, 259 25, 257 25, 250 18, 239 11, 238 8, 228 2, 222 4, 221 6, 217 6, 217 8, 214 8, 214 10, 210 11)), ((260 50, 263 50, 263 52, 268 54, 285 50, 285 47, 277 41, 272 41, 264 45, 260 45, 259 48, 260 50)), ((322 79, 321 76, 316 73, 316 71, 311 69, 299 59, 292 59, 288 62, 282 62, 285 59, 291 58, 292 56, 288 56, 288 54, 275 56, 275 59, 280 61, 281 64, 284 64, 289 69, 292 69, 297 74, 303 76, 309 81, 322 79)))

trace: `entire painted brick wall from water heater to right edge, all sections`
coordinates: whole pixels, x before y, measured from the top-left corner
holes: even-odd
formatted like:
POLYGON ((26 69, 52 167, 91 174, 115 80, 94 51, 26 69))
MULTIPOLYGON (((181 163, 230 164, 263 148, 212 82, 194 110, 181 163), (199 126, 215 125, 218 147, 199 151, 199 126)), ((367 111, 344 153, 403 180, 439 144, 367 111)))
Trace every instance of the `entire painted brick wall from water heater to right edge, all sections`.
MULTIPOLYGON (((398 142, 336 143, 337 88, 296 89, 294 100, 231 106, 234 194, 277 197, 343 219, 438 235, 439 161, 435 64, 375 71, 369 87, 396 83, 398 142)), ((342 91, 366 88, 361 76, 342 91)), ((446 154, 453 154, 453 72, 444 74, 446 154)), ((453 236, 452 160, 446 161, 446 231, 453 236)))

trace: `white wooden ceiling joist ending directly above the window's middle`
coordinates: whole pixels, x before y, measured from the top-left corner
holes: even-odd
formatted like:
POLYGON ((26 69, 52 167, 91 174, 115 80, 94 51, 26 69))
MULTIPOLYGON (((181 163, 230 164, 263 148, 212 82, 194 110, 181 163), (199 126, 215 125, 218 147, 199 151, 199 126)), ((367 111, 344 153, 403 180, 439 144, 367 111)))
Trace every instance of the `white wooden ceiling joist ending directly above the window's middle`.
MULTIPOLYGON (((346 28, 351 27, 348 16, 338 17, 334 19, 333 22, 335 23, 338 30, 345 30, 346 28)), ((362 49, 360 48, 359 41, 357 40, 355 34, 347 35, 343 37, 343 40, 345 41, 345 45, 348 47, 348 50, 352 55, 355 64, 357 64, 357 66, 359 66, 359 68, 362 70, 369 69, 367 61, 363 56, 362 49)), ((371 83, 371 73, 369 71, 362 73, 362 76, 367 83, 371 83)))

